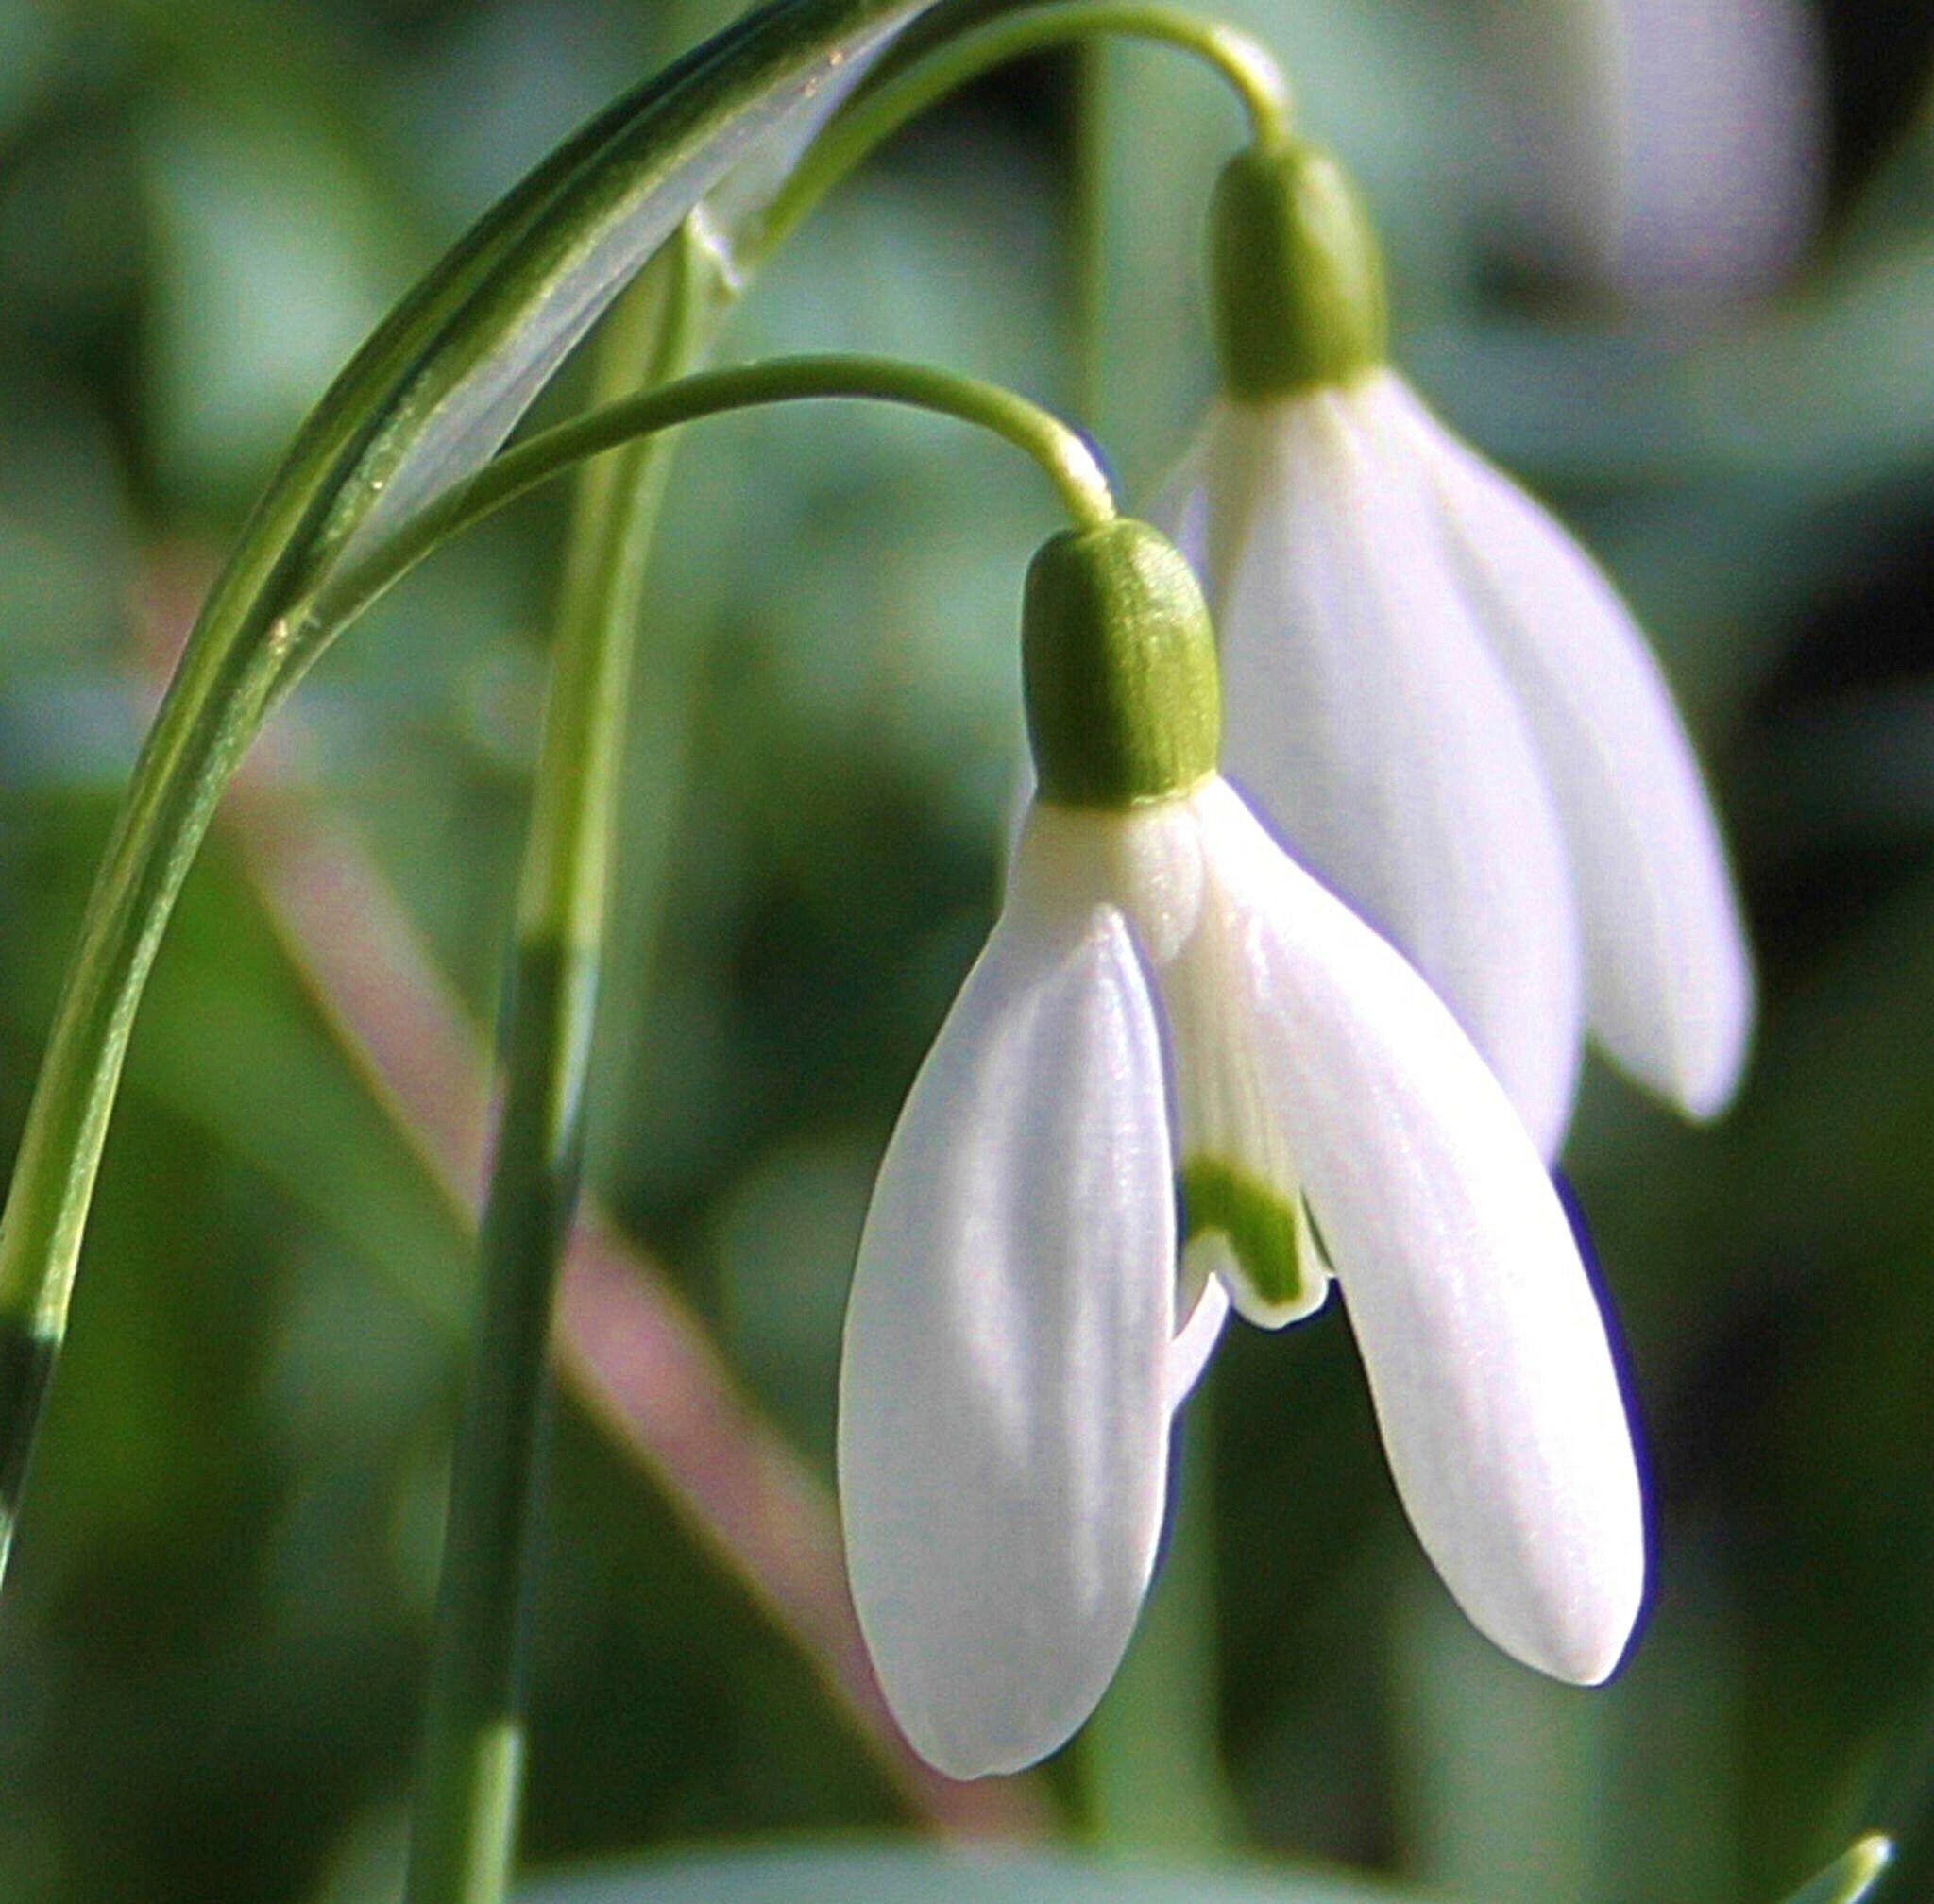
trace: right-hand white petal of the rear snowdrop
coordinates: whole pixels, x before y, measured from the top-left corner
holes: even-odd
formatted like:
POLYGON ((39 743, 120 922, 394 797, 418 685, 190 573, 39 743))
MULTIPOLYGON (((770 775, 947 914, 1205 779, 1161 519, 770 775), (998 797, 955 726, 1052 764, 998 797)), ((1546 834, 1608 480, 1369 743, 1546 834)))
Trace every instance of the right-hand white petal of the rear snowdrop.
POLYGON ((1485 639, 1559 801, 1603 1047, 1694 1116, 1731 1099, 1752 964, 1719 826, 1671 689, 1590 555, 1396 379, 1391 426, 1421 455, 1485 639))

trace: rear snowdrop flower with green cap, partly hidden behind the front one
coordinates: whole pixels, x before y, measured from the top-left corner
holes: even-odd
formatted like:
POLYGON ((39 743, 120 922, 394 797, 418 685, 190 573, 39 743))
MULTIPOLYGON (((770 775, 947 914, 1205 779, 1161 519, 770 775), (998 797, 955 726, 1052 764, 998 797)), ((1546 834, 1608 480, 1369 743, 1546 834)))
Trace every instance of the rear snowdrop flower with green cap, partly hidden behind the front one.
POLYGON ((1331 159, 1238 157, 1213 275, 1222 395, 1166 513, 1222 629, 1230 774, 1437 987, 1547 1155, 1586 1027, 1717 1113, 1750 962, 1630 613, 1383 362, 1375 242, 1331 159))

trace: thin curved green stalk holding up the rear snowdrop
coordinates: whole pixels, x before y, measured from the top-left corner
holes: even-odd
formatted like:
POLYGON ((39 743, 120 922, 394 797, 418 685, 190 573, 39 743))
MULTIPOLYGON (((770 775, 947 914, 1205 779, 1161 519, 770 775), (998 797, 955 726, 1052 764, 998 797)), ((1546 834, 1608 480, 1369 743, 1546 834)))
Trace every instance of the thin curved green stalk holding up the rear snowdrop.
POLYGON ((984 27, 946 41, 928 58, 864 93, 820 134, 768 207, 756 244, 741 250, 764 257, 878 145, 969 79, 1023 54, 1095 33, 1153 41, 1193 54, 1236 89, 1257 145, 1275 149, 1288 141, 1288 79, 1275 54, 1247 33, 1220 19, 1162 6, 1160 0, 1048 0, 1044 6, 1002 14, 984 27))

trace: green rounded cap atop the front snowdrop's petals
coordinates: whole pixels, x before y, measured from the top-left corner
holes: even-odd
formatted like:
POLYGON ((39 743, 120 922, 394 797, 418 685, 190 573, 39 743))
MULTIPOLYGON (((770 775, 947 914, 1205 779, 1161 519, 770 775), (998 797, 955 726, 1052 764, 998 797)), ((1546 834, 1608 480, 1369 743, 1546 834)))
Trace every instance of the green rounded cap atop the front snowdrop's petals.
POLYGON ((1021 602, 1027 737, 1040 797, 1170 799, 1216 770, 1215 631, 1182 551, 1147 522, 1050 536, 1021 602))

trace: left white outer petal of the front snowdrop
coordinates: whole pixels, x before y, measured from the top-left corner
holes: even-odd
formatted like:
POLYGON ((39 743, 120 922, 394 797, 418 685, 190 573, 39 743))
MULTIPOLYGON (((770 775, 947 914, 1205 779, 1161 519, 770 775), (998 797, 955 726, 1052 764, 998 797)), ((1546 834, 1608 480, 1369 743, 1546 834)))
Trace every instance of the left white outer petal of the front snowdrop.
POLYGON ((861 1627, 955 1778, 1054 1751, 1133 1629, 1168 1459, 1172 1169, 1122 915, 1010 898, 880 1167, 839 1374, 861 1627))

